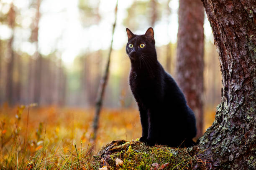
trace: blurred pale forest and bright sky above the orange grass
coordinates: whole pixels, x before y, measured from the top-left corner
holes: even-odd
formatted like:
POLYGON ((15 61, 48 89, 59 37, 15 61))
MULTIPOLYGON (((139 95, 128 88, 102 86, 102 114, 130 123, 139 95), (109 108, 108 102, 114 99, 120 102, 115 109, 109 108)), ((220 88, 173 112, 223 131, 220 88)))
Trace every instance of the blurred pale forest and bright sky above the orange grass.
MULTIPOLYGON (((154 27, 161 64, 173 77, 177 60, 178 0, 119 1, 109 83, 103 107, 136 108, 128 85, 128 27, 154 27)), ((1 0, 0 104, 94 107, 107 62, 115 1, 1 0)), ((204 23, 206 114, 220 102, 221 76, 212 31, 204 23), (209 109, 210 108, 210 109, 209 109)), ((191 32, 192 33, 192 32, 191 32)), ((205 125, 209 127, 210 125, 205 125)))

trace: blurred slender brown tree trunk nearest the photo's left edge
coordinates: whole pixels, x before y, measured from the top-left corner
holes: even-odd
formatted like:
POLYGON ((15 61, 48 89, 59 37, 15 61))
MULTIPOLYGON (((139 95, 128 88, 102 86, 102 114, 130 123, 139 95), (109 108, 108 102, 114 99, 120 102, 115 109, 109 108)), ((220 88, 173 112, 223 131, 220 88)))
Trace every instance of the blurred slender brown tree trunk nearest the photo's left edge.
MULTIPOLYGON (((10 10, 8 12, 8 25, 14 31, 15 26, 15 10, 14 5, 11 3, 10 10)), ((5 99, 10 105, 13 105, 13 65, 14 65, 14 51, 13 51, 13 38, 14 33, 8 40, 8 64, 7 64, 7 80, 6 80, 6 93, 5 99)))

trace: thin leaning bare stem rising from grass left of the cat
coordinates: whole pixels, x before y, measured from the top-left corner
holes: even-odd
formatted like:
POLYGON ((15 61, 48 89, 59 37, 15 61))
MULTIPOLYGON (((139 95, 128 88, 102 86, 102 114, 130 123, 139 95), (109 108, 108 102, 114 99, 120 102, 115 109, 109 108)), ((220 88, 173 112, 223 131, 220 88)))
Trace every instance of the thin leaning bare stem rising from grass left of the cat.
POLYGON ((92 140, 93 141, 95 141, 95 139, 97 137, 97 129, 98 129, 98 126, 99 126, 100 110, 101 110, 101 107, 102 107, 102 102, 103 102, 103 96, 104 96, 104 93, 105 93, 105 88, 106 88, 106 85, 107 85, 107 82, 108 82, 109 67, 110 67, 110 57, 111 57, 111 52, 112 52, 113 36, 114 36, 114 32, 115 32, 117 10, 118 10, 118 0, 116 2, 116 6, 115 6, 115 22, 113 24, 112 40, 111 40, 110 49, 109 49, 109 53, 108 53, 108 61, 107 61, 107 65, 105 67, 104 75, 102 77, 102 80, 100 81, 100 86, 99 86, 98 94, 97 94, 97 98, 96 98, 95 116, 94 116, 93 125, 92 125, 92 128, 93 128, 92 140))

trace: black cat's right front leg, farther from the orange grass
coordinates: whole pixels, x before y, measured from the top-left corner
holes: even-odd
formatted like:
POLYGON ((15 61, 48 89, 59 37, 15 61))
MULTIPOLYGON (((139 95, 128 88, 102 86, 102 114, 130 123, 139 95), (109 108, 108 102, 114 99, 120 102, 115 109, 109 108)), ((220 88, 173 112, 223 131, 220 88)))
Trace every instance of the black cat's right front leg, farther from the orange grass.
POLYGON ((154 146, 157 140, 157 111, 154 109, 148 110, 148 137, 146 145, 154 146))

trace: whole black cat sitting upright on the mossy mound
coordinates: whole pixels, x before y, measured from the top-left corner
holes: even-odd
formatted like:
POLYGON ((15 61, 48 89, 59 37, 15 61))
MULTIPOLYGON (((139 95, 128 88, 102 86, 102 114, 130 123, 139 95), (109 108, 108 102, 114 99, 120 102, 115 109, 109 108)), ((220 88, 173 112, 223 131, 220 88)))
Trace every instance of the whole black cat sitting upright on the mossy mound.
POLYGON ((174 79, 157 60, 153 28, 148 28, 144 35, 134 35, 128 28, 126 32, 126 53, 131 60, 130 86, 141 116, 140 141, 149 146, 194 145, 195 115, 174 79), (139 47, 141 43, 145 44, 143 48, 139 47))

